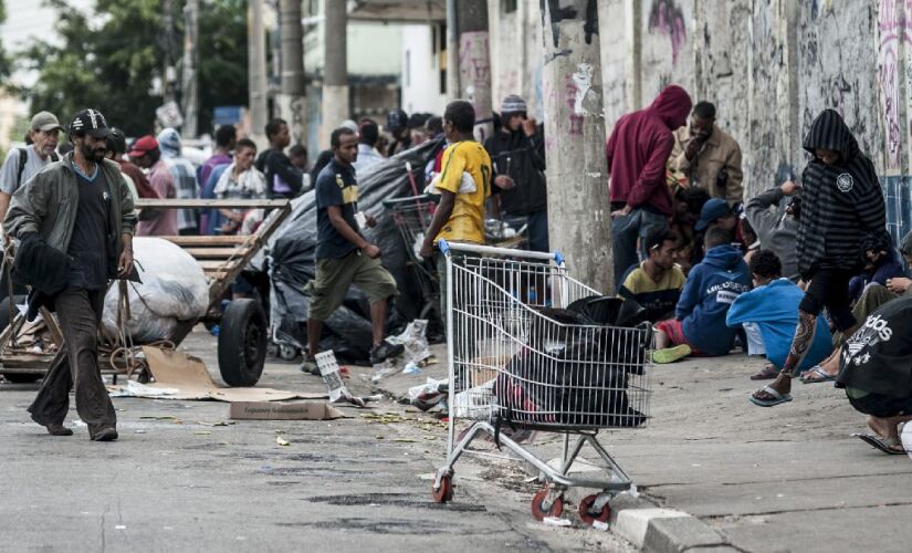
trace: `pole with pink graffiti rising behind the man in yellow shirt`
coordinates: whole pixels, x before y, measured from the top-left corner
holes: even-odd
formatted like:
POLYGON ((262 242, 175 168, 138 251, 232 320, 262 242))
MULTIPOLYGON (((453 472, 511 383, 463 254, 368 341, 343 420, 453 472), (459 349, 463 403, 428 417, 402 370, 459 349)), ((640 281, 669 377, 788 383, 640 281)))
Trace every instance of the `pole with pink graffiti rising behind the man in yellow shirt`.
POLYGON ((475 138, 483 143, 494 133, 488 1, 460 1, 455 21, 459 31, 459 82, 462 86, 459 95, 475 106, 475 138))

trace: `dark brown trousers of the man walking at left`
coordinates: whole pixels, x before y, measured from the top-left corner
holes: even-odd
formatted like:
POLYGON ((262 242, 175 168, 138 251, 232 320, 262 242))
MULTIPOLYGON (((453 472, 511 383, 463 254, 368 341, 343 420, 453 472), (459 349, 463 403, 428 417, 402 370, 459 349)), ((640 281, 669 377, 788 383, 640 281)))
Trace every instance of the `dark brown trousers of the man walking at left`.
POLYGON ((39 425, 61 425, 70 409, 70 390, 76 390, 76 411, 90 436, 117 425, 114 405, 98 368, 98 325, 104 290, 67 289, 55 299, 64 346, 44 376, 29 413, 39 425))

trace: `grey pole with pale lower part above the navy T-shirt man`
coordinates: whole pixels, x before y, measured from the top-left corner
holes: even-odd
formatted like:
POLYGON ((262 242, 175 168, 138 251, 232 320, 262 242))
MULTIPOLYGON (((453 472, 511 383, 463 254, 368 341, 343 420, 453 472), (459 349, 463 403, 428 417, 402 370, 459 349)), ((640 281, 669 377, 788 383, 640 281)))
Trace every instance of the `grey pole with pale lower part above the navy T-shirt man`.
MULTIPOLYGON (((329 134, 348 118, 348 28, 347 2, 323 2, 323 124, 318 148, 329 147, 329 134)), ((316 150, 315 149, 315 150, 316 150)))

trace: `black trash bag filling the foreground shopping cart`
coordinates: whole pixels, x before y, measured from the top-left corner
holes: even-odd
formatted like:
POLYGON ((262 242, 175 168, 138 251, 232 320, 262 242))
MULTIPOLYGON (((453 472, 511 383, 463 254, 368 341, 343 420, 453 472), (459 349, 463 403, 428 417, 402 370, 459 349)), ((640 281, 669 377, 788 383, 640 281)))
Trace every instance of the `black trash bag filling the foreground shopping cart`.
MULTIPOLYGON (((643 374, 651 341, 649 323, 639 321, 642 307, 600 296, 570 307, 536 309, 542 316, 531 319, 525 346, 494 383, 501 421, 533 427, 640 426, 646 414, 636 409, 629 392, 631 378, 643 374)), ((644 393, 638 390, 636 397, 644 393)))

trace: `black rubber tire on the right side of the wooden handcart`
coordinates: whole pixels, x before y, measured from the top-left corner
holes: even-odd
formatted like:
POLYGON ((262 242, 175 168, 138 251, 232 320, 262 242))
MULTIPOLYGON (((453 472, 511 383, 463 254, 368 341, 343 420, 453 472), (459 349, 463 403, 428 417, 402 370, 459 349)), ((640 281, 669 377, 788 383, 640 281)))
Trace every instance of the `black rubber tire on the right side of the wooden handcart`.
POLYGON ((219 372, 229 386, 255 386, 266 363, 266 314, 255 300, 233 300, 219 332, 219 372))

